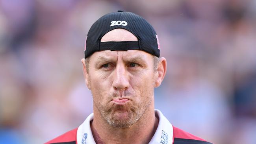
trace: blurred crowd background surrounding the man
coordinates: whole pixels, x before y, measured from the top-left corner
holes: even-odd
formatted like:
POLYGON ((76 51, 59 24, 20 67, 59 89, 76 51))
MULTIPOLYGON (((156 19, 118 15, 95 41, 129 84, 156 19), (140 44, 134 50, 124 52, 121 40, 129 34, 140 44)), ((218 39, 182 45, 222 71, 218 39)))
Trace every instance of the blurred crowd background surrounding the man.
POLYGON ((155 107, 215 144, 256 144, 256 0, 0 0, 0 144, 40 144, 92 113, 82 74, 93 22, 119 9, 158 33, 155 107))

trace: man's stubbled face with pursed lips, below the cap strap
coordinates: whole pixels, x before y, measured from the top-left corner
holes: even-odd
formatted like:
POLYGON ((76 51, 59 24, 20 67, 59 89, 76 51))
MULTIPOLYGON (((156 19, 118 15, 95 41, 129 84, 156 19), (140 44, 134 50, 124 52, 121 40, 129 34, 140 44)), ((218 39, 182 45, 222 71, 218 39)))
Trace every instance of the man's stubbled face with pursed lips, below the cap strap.
MULTIPOLYGON (((111 35, 109 37, 111 38, 111 35)), ((130 39, 122 38, 122 41, 126 40, 130 39)), ((157 76, 152 55, 147 52, 95 52, 90 57, 87 74, 87 85, 93 95, 94 112, 100 113, 113 127, 132 126, 148 107, 154 105, 157 76)))

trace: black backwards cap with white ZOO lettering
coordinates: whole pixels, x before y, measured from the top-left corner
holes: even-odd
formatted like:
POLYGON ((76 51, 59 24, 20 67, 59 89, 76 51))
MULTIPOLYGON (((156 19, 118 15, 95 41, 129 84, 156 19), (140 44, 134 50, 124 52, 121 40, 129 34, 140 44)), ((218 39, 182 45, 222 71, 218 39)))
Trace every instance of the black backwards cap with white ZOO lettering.
POLYGON ((85 40, 85 58, 101 50, 143 50, 160 57, 160 44, 154 28, 139 15, 121 10, 102 16, 91 26, 85 40), (106 33, 116 28, 130 31, 138 41, 100 42, 106 33))

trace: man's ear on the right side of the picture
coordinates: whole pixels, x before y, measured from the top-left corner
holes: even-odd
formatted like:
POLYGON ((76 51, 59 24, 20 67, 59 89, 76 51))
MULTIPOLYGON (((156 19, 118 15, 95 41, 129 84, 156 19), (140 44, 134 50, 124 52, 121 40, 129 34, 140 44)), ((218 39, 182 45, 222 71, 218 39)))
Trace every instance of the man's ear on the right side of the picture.
POLYGON ((158 63, 158 68, 156 71, 156 82, 155 87, 159 87, 163 81, 166 74, 167 62, 164 57, 161 57, 158 63))

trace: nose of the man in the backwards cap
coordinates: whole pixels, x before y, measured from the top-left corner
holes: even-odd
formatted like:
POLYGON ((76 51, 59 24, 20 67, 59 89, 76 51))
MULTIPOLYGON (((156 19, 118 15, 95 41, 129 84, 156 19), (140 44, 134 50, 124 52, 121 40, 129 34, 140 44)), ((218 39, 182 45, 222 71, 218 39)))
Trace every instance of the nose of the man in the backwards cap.
POLYGON ((126 68, 123 64, 119 64, 115 68, 115 73, 113 75, 113 87, 115 90, 126 90, 130 83, 128 79, 128 74, 126 68))

